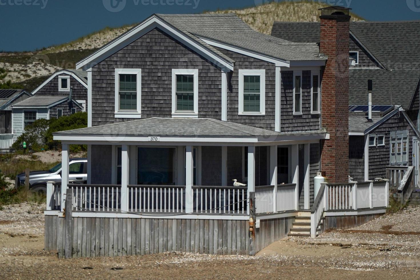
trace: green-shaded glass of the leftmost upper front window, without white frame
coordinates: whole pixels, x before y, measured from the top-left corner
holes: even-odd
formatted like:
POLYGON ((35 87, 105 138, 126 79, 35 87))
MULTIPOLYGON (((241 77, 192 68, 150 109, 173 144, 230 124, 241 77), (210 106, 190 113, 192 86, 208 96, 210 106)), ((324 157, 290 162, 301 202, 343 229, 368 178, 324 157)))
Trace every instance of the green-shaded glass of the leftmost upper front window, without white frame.
POLYGON ((119 110, 137 110, 137 75, 119 74, 119 110))

